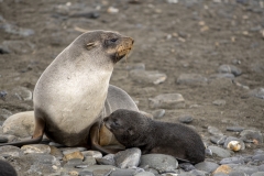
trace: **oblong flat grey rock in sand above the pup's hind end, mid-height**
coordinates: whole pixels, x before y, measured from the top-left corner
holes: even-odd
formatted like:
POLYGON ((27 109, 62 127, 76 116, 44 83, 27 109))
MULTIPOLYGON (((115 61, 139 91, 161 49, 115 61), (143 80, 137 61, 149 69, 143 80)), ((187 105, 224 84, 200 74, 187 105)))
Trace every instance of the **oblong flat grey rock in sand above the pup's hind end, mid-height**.
POLYGON ((180 85, 206 85, 207 78, 198 74, 182 74, 176 80, 180 85))

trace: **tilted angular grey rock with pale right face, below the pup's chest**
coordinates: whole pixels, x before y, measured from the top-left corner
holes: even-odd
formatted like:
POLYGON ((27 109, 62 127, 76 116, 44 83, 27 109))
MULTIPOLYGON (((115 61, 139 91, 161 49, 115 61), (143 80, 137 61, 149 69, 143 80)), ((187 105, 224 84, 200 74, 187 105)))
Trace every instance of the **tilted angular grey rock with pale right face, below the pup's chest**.
POLYGON ((116 166, 119 168, 136 167, 140 163, 141 150, 138 147, 120 151, 114 155, 116 166))

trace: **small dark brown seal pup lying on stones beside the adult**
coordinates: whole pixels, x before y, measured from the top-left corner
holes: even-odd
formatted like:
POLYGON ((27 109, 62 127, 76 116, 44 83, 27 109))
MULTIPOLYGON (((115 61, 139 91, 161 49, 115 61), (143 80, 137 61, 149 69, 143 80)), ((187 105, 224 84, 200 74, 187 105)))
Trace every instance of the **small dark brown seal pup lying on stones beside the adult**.
POLYGON ((125 109, 112 112, 103 122, 125 147, 140 147, 143 154, 169 154, 190 163, 205 161, 201 138, 186 125, 154 121, 125 109))

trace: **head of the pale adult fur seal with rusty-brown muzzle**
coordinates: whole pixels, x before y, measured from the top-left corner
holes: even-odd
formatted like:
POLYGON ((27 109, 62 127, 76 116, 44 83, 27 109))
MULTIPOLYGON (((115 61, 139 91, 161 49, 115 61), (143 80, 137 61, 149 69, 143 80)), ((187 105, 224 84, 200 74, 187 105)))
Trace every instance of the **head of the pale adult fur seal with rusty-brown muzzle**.
MULTIPOLYGON (((116 64, 130 53, 134 40, 111 31, 91 31, 84 33, 74 42, 75 46, 82 47, 89 55, 111 58, 116 64)), ((95 61, 94 61, 95 62, 95 61)))

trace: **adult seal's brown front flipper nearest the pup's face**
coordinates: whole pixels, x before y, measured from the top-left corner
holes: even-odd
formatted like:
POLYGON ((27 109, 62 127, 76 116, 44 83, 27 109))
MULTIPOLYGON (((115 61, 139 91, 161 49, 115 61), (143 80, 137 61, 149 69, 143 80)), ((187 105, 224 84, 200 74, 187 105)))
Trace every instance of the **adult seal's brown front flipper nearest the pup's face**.
POLYGON ((102 154, 114 154, 117 152, 119 152, 120 150, 114 150, 114 148, 106 148, 102 147, 99 144, 99 131, 100 131, 100 123, 96 122, 95 124, 92 124, 92 127, 90 128, 90 144, 91 144, 91 148, 101 152, 102 154))

